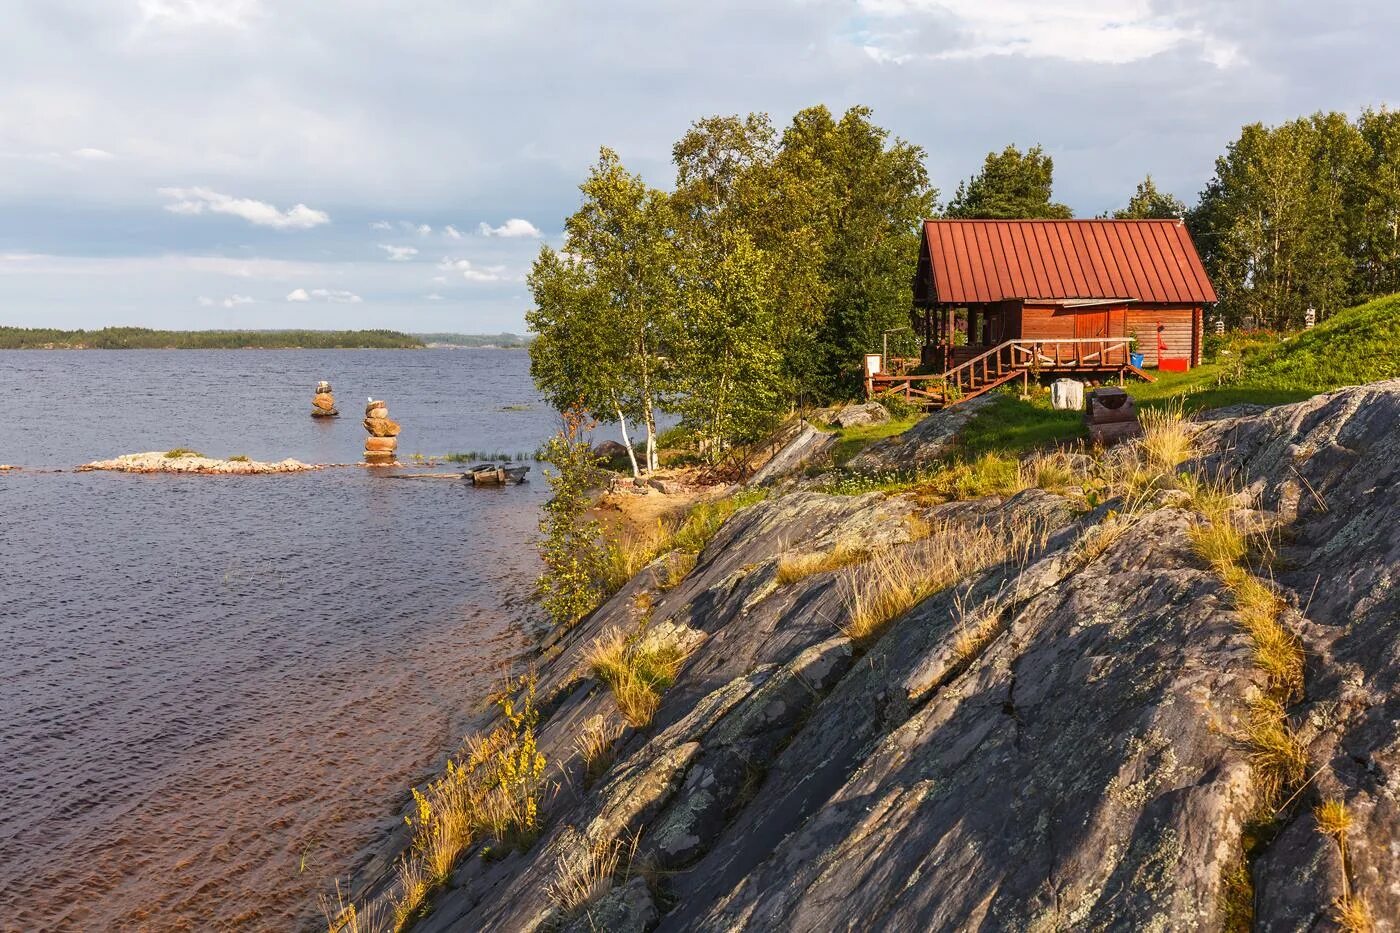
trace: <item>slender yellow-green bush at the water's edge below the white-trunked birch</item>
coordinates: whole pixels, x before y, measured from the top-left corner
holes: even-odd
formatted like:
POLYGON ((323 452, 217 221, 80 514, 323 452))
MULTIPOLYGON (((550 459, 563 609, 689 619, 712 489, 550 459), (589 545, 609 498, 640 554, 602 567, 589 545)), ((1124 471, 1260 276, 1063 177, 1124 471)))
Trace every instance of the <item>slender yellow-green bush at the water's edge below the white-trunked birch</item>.
POLYGON ((571 405, 563 412, 559 433, 545 444, 545 461, 554 468, 549 474, 554 496, 545 503, 539 523, 545 572, 535 583, 535 595, 550 621, 561 628, 578 622, 602 600, 602 528, 584 520, 599 469, 585 436, 589 426, 582 403, 571 405))

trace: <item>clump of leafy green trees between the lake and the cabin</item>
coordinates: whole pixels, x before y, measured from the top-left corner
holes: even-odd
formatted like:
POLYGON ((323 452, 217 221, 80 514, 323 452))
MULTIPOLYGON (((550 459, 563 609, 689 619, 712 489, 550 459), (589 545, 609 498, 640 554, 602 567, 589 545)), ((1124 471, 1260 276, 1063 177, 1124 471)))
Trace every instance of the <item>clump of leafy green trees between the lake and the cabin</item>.
POLYGON ((675 144, 675 191, 610 150, 581 185, 561 251, 529 276, 531 371, 559 408, 641 424, 680 413, 720 459, 799 398, 851 395, 860 360, 904 325, 924 153, 867 108, 699 120, 675 144))

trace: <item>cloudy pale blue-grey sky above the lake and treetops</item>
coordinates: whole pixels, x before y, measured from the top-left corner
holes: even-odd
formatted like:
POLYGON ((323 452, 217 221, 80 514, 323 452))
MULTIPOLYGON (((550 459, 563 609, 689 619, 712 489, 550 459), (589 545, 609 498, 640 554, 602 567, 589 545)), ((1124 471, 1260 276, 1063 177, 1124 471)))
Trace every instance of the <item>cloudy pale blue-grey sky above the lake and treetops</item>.
POLYGON ((7 0, 0 325, 521 332, 599 146, 864 104, 946 199, 1042 144, 1079 216, 1240 126, 1400 99, 1382 0, 7 0))

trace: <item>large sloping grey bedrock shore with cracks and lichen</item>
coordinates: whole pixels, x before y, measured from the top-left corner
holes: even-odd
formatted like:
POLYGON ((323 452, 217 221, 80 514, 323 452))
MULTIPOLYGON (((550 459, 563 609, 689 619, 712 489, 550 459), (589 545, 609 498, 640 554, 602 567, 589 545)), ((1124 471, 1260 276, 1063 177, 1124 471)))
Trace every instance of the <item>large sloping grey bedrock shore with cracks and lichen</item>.
POLYGON ((1210 517, 1200 489, 928 506, 787 481, 682 580, 658 559, 545 647, 542 834, 465 857, 414 929, 1394 929, 1397 424, 1400 381, 1201 422, 1180 469, 1228 481, 1210 517), (1249 572, 1201 556, 1212 523, 1267 542, 1249 572), (1030 531, 956 556, 1008 528, 1030 531), (785 563, 843 546, 874 556, 785 563), (853 637, 853 594, 897 559, 965 573, 853 637), (1296 686, 1260 660, 1246 584, 1296 686), (585 660, 613 630, 689 650, 643 727, 585 660), (599 721, 601 770, 580 751, 599 721))

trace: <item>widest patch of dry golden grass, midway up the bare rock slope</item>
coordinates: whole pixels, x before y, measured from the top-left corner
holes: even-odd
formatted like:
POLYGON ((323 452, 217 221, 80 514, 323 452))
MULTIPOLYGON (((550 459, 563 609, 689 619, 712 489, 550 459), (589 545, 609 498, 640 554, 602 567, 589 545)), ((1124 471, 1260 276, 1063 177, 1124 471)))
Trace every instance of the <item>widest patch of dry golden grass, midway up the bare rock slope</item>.
POLYGON ((945 523, 917 545, 878 553, 853 570, 843 633, 858 646, 885 626, 969 573, 1007 560, 1025 563, 1044 544, 1044 528, 1012 520, 995 527, 945 523))

